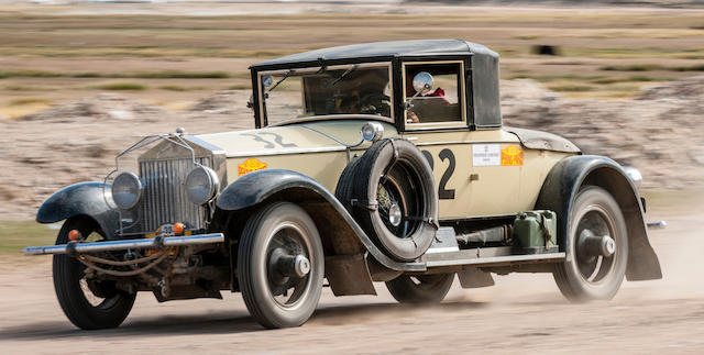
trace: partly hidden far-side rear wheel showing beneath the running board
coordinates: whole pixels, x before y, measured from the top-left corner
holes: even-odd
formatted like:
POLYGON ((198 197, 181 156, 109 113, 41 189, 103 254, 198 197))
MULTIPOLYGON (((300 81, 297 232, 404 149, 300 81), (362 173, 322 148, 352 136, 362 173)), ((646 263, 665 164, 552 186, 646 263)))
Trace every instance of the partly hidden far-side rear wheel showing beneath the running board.
POLYGON ((386 281, 386 288, 399 303, 439 303, 453 280, 454 274, 402 275, 386 281))

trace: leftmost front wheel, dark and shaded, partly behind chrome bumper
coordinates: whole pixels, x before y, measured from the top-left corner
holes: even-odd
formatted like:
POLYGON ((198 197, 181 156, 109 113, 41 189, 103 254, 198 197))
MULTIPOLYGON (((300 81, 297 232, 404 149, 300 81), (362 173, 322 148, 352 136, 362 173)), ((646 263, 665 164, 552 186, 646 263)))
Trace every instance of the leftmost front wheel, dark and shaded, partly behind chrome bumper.
MULTIPOLYGON (((103 240, 91 221, 68 220, 58 232, 56 244, 68 243, 68 232, 78 230, 86 241, 103 240)), ((111 281, 94 281, 86 277, 86 266, 75 257, 54 255, 54 290, 64 314, 84 330, 116 328, 124 321, 134 304, 135 293, 127 293, 111 281)))

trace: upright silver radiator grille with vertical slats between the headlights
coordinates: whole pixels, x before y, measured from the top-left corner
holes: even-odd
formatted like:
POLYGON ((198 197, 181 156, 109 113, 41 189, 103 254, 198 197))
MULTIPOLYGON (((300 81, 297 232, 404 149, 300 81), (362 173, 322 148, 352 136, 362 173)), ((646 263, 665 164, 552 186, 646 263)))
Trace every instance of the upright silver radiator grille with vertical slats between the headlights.
MULTIPOLYGON (((196 159, 212 167, 209 157, 196 159)), ((195 229, 204 228, 204 208, 193 204, 186 197, 186 176, 194 169, 190 158, 140 162, 140 176, 144 181, 141 221, 144 231, 156 231, 166 223, 183 222, 195 229)))

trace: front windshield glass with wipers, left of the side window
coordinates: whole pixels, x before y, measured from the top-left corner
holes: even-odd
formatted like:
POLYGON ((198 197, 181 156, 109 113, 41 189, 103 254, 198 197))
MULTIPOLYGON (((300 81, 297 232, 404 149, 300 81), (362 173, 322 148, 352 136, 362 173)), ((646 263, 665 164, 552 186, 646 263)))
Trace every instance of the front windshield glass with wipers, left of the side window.
POLYGON ((388 65, 263 73, 260 80, 267 125, 329 114, 392 117, 388 65))

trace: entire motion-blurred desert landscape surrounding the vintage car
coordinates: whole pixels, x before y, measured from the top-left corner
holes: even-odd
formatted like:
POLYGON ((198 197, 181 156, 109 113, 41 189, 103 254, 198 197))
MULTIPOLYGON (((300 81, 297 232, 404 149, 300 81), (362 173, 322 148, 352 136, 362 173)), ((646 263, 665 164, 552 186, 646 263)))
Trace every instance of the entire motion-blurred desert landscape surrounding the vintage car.
POLYGON ((462 7, 402 1, 74 3, 0 1, 0 348, 4 353, 704 352, 704 10, 462 7), (496 276, 442 304, 328 289, 302 328, 265 331, 239 295, 158 304, 76 330, 63 315, 53 243, 32 222, 56 189, 101 180, 150 133, 252 127, 248 66, 349 43, 459 37, 502 55, 507 124, 573 140, 639 168, 663 279, 610 302, 570 304, 550 275, 496 276), (551 45, 557 55, 534 53, 551 45))

